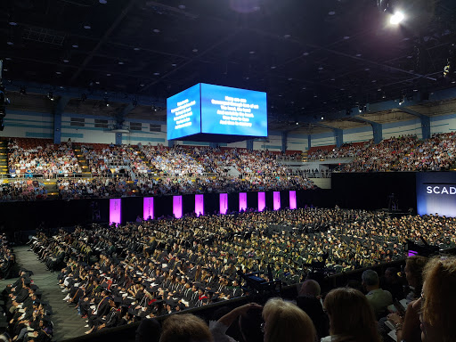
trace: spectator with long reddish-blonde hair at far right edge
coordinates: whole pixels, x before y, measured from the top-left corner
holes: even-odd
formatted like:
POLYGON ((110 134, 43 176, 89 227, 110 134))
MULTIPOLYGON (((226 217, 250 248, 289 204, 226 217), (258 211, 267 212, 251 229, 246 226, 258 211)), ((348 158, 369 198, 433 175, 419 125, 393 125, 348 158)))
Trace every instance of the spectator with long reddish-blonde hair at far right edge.
POLYGON ((421 340, 423 342, 456 341, 456 257, 435 258, 424 271, 421 297, 415 302, 421 312, 421 340))

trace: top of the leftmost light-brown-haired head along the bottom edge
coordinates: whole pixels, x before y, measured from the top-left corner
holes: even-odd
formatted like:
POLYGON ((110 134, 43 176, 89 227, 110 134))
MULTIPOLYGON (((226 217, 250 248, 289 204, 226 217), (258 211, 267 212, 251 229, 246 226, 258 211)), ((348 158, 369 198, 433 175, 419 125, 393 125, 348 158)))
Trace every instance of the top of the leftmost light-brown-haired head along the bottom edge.
POLYGON ((194 314, 173 314, 163 322, 160 342, 212 342, 208 324, 194 314))

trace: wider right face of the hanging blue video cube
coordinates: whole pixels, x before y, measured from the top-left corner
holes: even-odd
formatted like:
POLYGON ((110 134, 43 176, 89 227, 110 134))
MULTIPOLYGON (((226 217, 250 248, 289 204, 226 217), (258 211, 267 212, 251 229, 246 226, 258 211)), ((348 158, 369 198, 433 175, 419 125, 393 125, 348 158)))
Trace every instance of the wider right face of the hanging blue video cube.
POLYGON ((267 136, 266 93, 201 83, 201 133, 267 136))

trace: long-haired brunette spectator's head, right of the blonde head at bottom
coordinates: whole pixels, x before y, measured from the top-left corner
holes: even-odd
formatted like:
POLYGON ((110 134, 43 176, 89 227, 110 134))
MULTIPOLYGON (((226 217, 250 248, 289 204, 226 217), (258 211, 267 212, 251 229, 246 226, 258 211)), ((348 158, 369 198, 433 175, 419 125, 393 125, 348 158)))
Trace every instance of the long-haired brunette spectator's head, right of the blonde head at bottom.
POLYGON ((357 289, 332 289, 324 299, 330 336, 322 342, 380 342, 377 322, 366 296, 357 289))

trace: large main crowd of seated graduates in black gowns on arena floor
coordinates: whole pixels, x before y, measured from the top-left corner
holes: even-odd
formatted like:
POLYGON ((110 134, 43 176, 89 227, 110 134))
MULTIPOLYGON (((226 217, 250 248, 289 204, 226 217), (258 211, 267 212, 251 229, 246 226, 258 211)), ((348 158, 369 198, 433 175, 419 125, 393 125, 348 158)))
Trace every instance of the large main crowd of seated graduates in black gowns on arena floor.
POLYGON ((268 265, 273 280, 295 284, 322 265, 338 273, 403 259, 406 239, 452 248, 455 224, 338 208, 247 211, 39 233, 32 248, 60 270, 65 300, 92 332, 243 296, 237 273, 270 281, 268 265))

